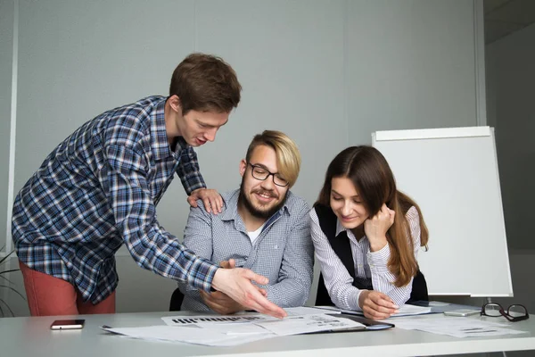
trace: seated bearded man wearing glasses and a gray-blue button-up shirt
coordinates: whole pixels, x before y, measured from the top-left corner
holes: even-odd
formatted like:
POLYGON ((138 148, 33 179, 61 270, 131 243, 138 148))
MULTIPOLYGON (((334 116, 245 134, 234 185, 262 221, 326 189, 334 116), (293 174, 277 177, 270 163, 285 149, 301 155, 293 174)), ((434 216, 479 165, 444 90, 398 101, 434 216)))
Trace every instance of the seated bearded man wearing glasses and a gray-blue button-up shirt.
MULTIPOLYGON (((283 308, 307 302, 313 275, 309 204, 290 191, 299 170, 300 153, 292 139, 266 130, 252 139, 240 163, 241 187, 222 195, 223 212, 211 214, 198 201, 185 227, 184 245, 193 253, 223 268, 247 268, 269 278, 260 291, 283 308)), ((244 310, 219 291, 178 287, 185 295, 181 310, 244 310)))

